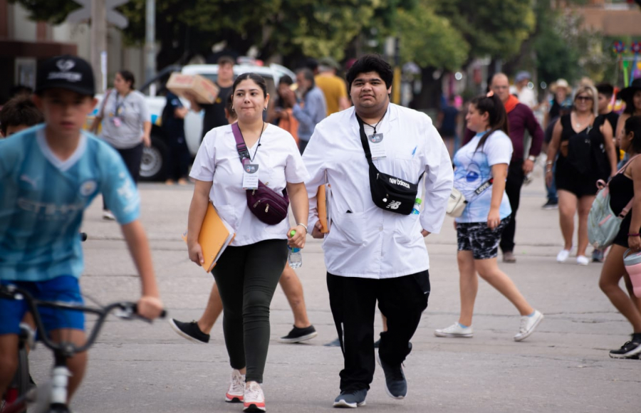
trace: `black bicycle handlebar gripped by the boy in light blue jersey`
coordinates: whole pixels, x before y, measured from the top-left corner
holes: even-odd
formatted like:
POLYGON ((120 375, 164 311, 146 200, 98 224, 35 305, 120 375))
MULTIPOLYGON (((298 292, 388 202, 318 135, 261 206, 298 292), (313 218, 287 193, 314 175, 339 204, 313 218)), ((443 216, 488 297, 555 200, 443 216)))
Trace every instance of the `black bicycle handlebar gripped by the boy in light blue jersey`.
MULTIPOLYGON (((67 356, 71 356, 79 352, 88 350, 88 348, 91 347, 95 343, 95 340, 98 338, 98 333, 100 333, 100 330, 103 327, 103 323, 105 323, 107 316, 114 310, 120 311, 120 313, 116 314, 119 318, 124 318, 126 320, 137 318, 139 320, 147 321, 148 323, 152 322, 152 320, 138 315, 137 304, 130 301, 120 301, 117 303, 108 304, 103 308, 93 308, 72 303, 38 300, 36 298, 33 298, 33 296, 31 296, 31 293, 29 293, 28 291, 14 285, 0 286, 0 298, 25 300, 29 311, 33 315, 33 320, 36 323, 36 330, 40 332, 38 338, 46 347, 48 347, 50 350, 53 350, 53 352, 64 352, 67 356), (40 312, 38 311, 38 305, 49 308, 60 308, 63 310, 75 310, 82 311, 83 313, 91 313, 98 315, 98 320, 95 321, 95 325, 93 326, 85 344, 76 346, 73 343, 53 343, 53 341, 51 341, 51 339, 48 338, 48 336, 44 333, 45 328, 40 317, 40 312)), ((166 315, 167 311, 162 310, 162 313, 160 313, 160 318, 165 318, 166 315)))

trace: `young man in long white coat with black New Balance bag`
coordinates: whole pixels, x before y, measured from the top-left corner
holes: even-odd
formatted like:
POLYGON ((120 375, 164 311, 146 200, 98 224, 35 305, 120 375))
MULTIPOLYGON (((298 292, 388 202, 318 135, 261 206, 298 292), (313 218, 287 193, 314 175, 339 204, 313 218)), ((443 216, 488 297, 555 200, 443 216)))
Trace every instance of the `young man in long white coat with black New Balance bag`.
POLYGON ((353 108, 318 123, 303 155, 311 175, 306 186, 315 238, 323 238, 316 192, 319 185, 331 185, 332 226, 323 250, 330 306, 345 358, 334 407, 365 404, 375 369, 376 301, 387 316, 377 353, 385 390, 395 399, 407 395, 402 362, 412 350, 410 338, 429 296, 423 237, 441 229, 452 192, 452 163, 443 140, 427 115, 390 103, 392 76, 380 56, 354 63, 346 76, 353 108), (379 146, 368 144, 377 169, 424 187, 420 214, 395 214, 372 201, 357 115, 365 135, 378 134, 379 146))

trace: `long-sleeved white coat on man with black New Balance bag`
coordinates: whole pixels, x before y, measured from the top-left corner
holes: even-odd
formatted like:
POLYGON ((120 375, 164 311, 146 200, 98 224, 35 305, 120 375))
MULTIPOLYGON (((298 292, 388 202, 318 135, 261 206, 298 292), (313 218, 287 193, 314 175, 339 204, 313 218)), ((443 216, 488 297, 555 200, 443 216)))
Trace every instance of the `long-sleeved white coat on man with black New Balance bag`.
POLYGON ((306 181, 310 230, 318 221, 318 186, 325 184, 325 176, 331 185, 332 226, 323 250, 327 271, 335 276, 395 278, 425 271, 429 256, 420 231, 437 234, 443 224, 452 192, 452 161, 432 120, 390 103, 378 132, 387 152, 384 159, 374 160, 380 172, 414 183, 425 173, 420 215, 394 214, 372 202, 354 108, 318 123, 303 155, 311 176, 306 181))

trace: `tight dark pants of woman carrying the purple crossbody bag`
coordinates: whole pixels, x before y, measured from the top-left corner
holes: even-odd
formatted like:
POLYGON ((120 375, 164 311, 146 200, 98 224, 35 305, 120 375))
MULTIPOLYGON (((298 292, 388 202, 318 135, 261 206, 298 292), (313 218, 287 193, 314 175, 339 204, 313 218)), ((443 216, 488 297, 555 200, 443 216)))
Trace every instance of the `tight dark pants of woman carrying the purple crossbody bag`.
POLYGON ((228 246, 212 273, 223 304, 223 333, 231 368, 247 367, 263 382, 269 346, 269 305, 287 260, 287 241, 228 246))

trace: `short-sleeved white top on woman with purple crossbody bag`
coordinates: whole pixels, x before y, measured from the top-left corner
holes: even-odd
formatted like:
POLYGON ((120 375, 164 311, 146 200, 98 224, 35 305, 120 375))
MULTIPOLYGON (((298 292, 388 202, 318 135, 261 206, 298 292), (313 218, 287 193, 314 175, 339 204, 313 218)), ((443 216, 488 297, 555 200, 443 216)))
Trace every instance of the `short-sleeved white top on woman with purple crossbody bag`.
MULTIPOLYGON (((260 140, 248 149, 251 163, 259 164, 259 179, 279 194, 287 182, 298 184, 309 177, 296 141, 278 126, 265 123, 260 140)), ((232 246, 255 244, 266 239, 287 239, 287 218, 276 225, 264 224, 247 206, 243 165, 231 125, 214 127, 207 132, 189 176, 212 182, 209 199, 222 219, 236 232, 232 246)))

